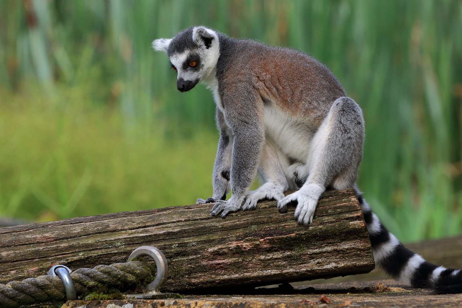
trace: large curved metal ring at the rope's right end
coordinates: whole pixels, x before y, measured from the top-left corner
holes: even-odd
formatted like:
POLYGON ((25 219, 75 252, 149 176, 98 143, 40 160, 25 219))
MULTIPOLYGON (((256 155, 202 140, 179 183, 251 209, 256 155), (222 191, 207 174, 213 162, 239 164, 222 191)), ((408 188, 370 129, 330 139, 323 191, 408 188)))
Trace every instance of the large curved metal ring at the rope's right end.
POLYGON ((167 280, 169 275, 169 266, 167 264, 167 259, 165 259, 164 254, 157 248, 152 246, 141 246, 136 248, 128 257, 127 262, 130 262, 132 259, 137 259, 140 257, 151 257, 156 261, 157 274, 156 278, 152 283, 146 286, 147 290, 150 290, 151 294, 159 294, 158 289, 164 284, 164 281, 167 280))

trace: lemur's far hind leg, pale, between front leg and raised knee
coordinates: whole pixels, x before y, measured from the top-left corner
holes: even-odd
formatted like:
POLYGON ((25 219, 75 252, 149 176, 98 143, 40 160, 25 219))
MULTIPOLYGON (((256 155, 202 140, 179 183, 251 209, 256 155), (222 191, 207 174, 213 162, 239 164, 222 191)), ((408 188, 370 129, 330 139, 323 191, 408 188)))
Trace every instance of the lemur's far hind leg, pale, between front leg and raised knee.
POLYGON ((284 199, 284 192, 289 188, 284 169, 288 167, 289 159, 267 138, 258 164, 258 172, 265 183, 247 193, 242 210, 255 210, 257 202, 260 200, 274 199, 279 201, 284 199))

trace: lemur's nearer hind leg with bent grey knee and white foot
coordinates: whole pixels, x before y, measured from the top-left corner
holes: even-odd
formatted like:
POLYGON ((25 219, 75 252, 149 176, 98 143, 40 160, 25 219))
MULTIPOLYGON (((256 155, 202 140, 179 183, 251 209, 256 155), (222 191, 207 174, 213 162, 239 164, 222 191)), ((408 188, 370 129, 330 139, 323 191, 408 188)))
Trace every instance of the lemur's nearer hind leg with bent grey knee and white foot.
POLYGON ((307 176, 306 182, 297 192, 280 200, 278 207, 297 200, 298 223, 311 224, 318 199, 326 187, 353 187, 363 156, 363 143, 361 108, 353 99, 340 97, 315 133, 305 167, 298 168, 298 177, 307 176))

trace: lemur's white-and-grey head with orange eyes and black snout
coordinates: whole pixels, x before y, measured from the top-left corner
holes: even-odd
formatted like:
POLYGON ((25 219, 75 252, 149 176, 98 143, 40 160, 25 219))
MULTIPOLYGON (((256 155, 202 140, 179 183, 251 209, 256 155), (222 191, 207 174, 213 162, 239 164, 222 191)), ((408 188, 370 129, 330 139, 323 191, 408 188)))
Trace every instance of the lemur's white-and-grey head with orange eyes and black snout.
POLYGON ((182 92, 194 88, 203 77, 210 77, 220 54, 218 33, 202 26, 183 30, 173 38, 154 40, 152 48, 169 56, 178 72, 176 87, 182 92))

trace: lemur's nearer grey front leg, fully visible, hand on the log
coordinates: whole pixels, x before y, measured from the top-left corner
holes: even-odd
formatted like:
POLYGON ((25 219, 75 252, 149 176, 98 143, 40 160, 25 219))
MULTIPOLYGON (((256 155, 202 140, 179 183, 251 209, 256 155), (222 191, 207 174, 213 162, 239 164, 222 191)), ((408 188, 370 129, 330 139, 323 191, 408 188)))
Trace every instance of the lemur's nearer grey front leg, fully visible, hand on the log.
MULTIPOLYGON (((255 177, 258 159, 265 141, 265 130, 260 115, 261 105, 259 105, 261 99, 249 93, 248 89, 239 91, 238 86, 231 88, 229 95, 224 95, 222 99, 225 106, 225 120, 234 136, 231 154, 232 195, 227 201, 217 201, 210 211, 212 216, 217 216, 221 212, 222 218, 242 208, 255 177)), ((225 89, 223 92, 226 93, 225 89)))

